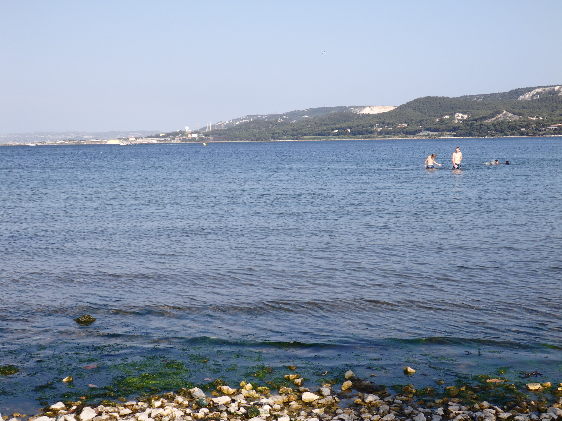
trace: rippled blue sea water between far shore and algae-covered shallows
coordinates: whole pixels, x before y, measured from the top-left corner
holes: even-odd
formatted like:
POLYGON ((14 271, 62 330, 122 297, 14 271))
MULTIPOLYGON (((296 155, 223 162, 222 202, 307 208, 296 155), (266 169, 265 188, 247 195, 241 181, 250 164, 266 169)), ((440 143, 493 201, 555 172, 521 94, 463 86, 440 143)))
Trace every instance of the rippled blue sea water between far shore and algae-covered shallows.
POLYGON ((561 140, 1 148, 0 365, 21 368, 2 399, 39 381, 24 350, 115 342, 376 354, 388 376, 417 347, 507 346, 560 373, 561 140))

